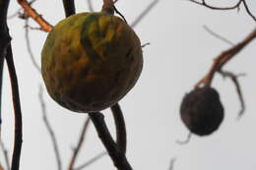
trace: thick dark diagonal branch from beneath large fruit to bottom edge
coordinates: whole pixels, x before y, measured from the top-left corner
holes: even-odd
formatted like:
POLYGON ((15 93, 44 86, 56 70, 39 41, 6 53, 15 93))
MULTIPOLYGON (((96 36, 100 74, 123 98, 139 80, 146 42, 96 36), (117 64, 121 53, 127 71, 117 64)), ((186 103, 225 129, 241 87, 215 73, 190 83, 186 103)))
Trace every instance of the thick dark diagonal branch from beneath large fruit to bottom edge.
POLYGON ((99 112, 92 112, 89 113, 89 116, 96 127, 96 132, 99 139, 106 148, 108 155, 111 157, 115 167, 118 170, 132 170, 132 167, 127 161, 125 155, 119 149, 118 145, 113 141, 105 125, 103 115, 99 112))

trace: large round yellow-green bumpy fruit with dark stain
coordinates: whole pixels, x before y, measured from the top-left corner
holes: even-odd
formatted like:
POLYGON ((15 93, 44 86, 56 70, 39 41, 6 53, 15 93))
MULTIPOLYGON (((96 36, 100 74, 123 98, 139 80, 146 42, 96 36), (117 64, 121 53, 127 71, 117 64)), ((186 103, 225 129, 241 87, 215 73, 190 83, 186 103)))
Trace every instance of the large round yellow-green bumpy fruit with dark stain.
POLYGON ((49 95, 75 112, 96 112, 120 100, 137 82, 142 48, 134 30, 107 13, 81 13, 59 22, 41 51, 49 95))

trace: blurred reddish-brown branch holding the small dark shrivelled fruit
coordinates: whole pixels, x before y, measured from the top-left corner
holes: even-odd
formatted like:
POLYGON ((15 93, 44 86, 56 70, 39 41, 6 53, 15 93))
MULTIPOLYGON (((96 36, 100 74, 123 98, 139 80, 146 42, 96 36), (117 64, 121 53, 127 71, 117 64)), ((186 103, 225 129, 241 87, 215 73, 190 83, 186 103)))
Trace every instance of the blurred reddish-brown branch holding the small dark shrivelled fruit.
POLYGON ((195 87, 200 85, 211 85, 212 80, 216 72, 220 71, 225 63, 227 63, 231 58, 238 54, 249 42, 251 42, 256 37, 256 28, 254 28, 241 42, 233 45, 224 52, 222 52, 215 59, 209 73, 200 80, 195 87))

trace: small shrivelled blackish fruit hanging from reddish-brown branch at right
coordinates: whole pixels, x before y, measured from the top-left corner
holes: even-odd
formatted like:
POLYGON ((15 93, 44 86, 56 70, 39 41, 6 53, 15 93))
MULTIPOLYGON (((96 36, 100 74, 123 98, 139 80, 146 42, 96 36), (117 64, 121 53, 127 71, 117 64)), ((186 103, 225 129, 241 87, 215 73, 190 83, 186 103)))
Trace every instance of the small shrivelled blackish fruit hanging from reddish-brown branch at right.
POLYGON ((180 116, 191 133, 198 136, 212 134, 224 120, 224 107, 218 91, 210 86, 193 89, 183 97, 180 116))

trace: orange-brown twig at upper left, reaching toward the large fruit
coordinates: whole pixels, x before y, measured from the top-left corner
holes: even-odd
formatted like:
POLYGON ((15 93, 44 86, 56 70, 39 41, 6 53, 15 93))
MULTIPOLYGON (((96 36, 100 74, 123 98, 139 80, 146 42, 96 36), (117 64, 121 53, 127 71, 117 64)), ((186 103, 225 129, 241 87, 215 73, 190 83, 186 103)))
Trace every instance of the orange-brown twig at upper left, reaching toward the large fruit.
POLYGON ((32 20, 34 22, 36 22, 39 26, 41 30, 44 31, 50 31, 52 29, 52 26, 46 22, 41 15, 39 15, 30 5, 30 3, 28 3, 27 0, 17 0, 18 3, 22 6, 22 8, 24 9, 25 13, 32 18, 32 20))

